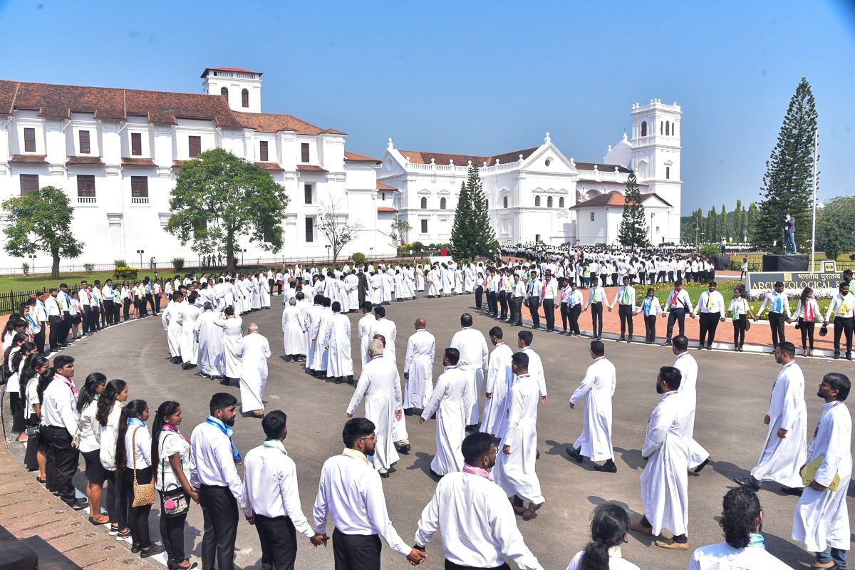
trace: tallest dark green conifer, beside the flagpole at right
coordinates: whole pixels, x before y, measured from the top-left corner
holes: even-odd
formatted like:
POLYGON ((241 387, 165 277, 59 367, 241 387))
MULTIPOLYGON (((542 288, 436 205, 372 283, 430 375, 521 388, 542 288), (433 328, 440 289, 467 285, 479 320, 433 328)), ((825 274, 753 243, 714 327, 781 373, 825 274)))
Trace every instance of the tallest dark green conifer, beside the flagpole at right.
POLYGON ((766 162, 757 220, 752 242, 782 252, 781 218, 790 214, 796 221, 796 249, 806 250, 811 236, 813 199, 813 148, 817 131, 817 109, 811 85, 804 77, 790 99, 778 142, 766 162))

